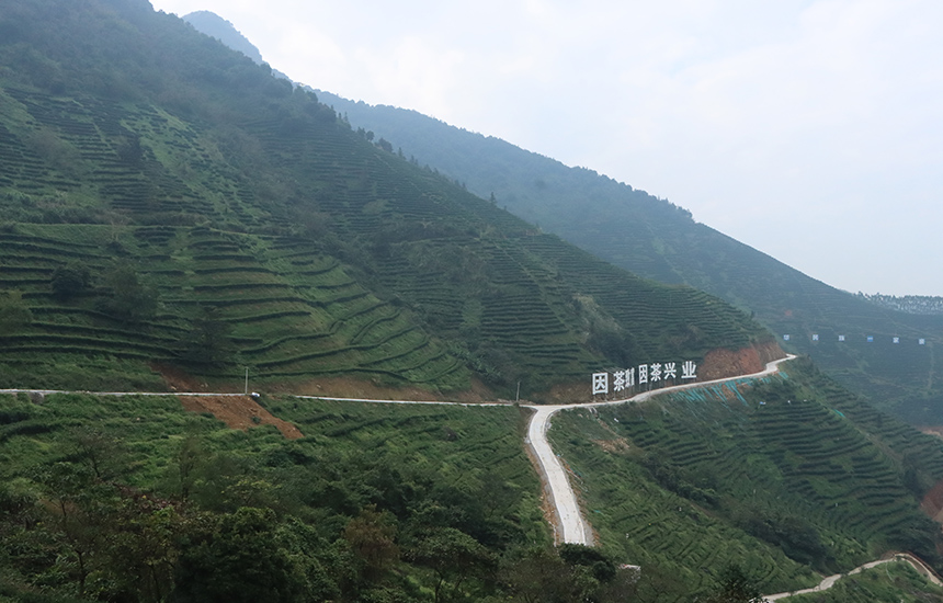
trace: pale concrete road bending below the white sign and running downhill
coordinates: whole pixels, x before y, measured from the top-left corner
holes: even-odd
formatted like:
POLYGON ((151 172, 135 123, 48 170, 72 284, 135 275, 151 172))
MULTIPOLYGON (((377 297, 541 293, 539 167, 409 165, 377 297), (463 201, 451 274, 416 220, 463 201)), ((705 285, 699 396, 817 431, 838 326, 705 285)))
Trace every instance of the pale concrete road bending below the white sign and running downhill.
POLYGON ((779 371, 781 363, 793 360, 794 357, 796 356, 788 355, 784 359, 771 362, 766 364, 766 367, 763 371, 752 373, 750 375, 662 387, 661 389, 643 391, 641 394, 637 394, 630 398, 622 400, 591 402, 584 405, 526 406, 525 408, 534 410, 534 414, 531 417, 531 423, 527 428, 527 444, 531 447, 531 452, 537 459, 537 464, 541 468, 541 479, 544 482, 544 488, 554 507, 556 519, 554 522, 555 539, 558 543, 571 543, 586 546, 592 546, 594 544, 592 526, 590 526, 589 522, 583 517, 582 512, 580 511, 579 501, 577 500, 577 496, 570 485, 564 464, 560 458, 554 454, 554 450, 550 447, 550 443, 547 440, 547 430, 550 426, 550 419, 554 414, 561 410, 571 410, 575 408, 595 408, 601 406, 624 405, 628 402, 638 403, 655 396, 679 391, 681 389, 693 389, 696 387, 722 384, 734 379, 760 378, 775 373, 779 371))

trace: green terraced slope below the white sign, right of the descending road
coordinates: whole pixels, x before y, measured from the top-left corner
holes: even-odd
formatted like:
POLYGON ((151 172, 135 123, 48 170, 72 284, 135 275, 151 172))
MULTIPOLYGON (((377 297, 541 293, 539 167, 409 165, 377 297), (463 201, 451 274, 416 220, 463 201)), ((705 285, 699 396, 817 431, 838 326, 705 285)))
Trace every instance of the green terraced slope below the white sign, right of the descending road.
POLYGON ((603 548, 674 568, 693 590, 712 583, 701 568, 730 562, 783 592, 799 587, 793 564, 831 574, 886 550, 936 559, 919 504, 943 479, 939 441, 808 362, 781 372, 560 414, 550 437, 603 548))

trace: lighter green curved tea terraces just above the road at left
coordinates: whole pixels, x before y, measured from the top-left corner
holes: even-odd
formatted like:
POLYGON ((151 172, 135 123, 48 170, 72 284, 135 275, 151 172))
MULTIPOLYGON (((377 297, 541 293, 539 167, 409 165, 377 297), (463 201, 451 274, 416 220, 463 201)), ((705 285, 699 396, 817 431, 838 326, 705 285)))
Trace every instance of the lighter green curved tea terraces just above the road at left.
POLYGON ((209 309, 228 334, 227 348, 255 377, 368 373, 453 388, 467 379, 401 309, 371 295, 337 260, 289 238, 207 227, 18 225, 0 234, 0 249, 4 286, 22 292, 33 312, 29 329, 4 338, 4 373, 27 383, 66 387, 76 378, 45 372, 31 378, 34 367, 54 364, 50 354, 75 365, 95 356, 100 367, 118 359, 211 371, 205 357, 188 355, 194 326, 209 309), (154 316, 121 320, 98 307, 93 293, 65 302, 50 293, 50 276, 66 260, 107 275, 117 247, 152 285, 160 300, 154 316))

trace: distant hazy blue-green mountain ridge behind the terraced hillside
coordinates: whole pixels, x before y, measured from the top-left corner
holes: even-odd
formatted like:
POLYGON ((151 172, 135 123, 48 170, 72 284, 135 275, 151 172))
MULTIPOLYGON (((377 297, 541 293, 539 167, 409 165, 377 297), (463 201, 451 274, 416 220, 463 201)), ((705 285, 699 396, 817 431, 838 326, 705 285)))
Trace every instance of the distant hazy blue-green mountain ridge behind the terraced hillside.
POLYGON ((934 360, 943 317, 906 315, 836 289, 592 170, 414 111, 317 93, 356 127, 480 196, 493 195, 543 231, 641 276, 722 297, 880 408, 917 424, 943 422, 943 375, 934 360))

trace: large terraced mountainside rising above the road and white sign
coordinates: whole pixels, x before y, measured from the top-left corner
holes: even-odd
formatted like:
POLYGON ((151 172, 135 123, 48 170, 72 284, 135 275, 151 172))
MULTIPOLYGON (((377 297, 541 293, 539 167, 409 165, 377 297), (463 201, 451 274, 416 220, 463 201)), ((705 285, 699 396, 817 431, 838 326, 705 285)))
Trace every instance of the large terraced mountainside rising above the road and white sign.
POLYGON ((0 8, 0 303, 20 317, 0 385, 155 388, 183 367, 235 387, 248 367, 531 396, 779 352, 743 312, 541 235, 146 2, 0 8))

